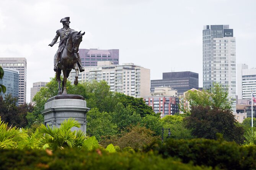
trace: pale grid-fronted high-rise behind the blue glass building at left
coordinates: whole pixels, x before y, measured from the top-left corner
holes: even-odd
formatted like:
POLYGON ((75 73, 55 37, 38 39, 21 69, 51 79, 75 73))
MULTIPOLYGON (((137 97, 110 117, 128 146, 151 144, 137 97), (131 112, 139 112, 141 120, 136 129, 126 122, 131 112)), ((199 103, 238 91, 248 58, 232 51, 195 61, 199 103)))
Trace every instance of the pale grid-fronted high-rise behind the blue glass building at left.
POLYGON ((0 66, 19 71, 18 104, 26 103, 27 60, 26 58, 0 58, 0 66))

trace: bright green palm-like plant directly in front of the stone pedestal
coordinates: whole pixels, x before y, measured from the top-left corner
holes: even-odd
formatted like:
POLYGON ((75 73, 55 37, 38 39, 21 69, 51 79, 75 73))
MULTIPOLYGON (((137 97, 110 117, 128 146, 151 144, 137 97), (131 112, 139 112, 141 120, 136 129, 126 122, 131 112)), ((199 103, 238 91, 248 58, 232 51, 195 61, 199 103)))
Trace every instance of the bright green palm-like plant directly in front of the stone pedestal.
POLYGON ((64 120, 59 128, 41 125, 38 127, 36 134, 43 133, 44 136, 38 139, 36 148, 44 149, 49 147, 50 149, 57 149, 81 147, 86 139, 85 133, 81 130, 72 132, 72 127, 80 127, 80 124, 72 118, 64 120))

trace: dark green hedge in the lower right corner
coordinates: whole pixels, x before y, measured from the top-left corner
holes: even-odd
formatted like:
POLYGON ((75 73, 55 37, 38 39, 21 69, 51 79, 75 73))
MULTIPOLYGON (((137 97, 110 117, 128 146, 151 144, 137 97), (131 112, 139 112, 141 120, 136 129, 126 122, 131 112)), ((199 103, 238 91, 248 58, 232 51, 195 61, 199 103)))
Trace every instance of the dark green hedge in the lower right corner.
POLYGON ((155 141, 143 149, 163 158, 174 157, 183 163, 204 165, 221 169, 256 169, 256 146, 240 146, 235 142, 221 140, 168 139, 165 143, 155 141))

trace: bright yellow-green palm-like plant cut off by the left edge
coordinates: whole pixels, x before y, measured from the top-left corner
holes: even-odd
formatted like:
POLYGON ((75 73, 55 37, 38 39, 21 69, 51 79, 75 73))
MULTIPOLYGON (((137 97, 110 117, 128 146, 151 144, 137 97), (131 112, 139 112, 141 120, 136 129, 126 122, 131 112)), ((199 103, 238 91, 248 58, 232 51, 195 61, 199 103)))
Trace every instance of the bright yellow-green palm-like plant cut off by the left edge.
POLYGON ((0 117, 0 148, 10 149, 17 148, 20 143, 26 140, 26 133, 22 129, 16 127, 8 127, 8 123, 4 123, 0 117))

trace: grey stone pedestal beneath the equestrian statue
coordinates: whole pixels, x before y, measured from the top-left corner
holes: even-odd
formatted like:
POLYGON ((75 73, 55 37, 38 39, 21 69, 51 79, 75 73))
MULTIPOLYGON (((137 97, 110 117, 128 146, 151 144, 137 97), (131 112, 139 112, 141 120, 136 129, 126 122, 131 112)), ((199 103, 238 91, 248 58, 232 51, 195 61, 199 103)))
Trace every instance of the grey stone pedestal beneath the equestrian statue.
POLYGON ((82 130, 86 133, 86 113, 89 110, 86 101, 80 95, 57 95, 47 100, 42 114, 46 126, 60 127, 65 119, 72 117, 81 127, 73 127, 71 130, 82 130))

